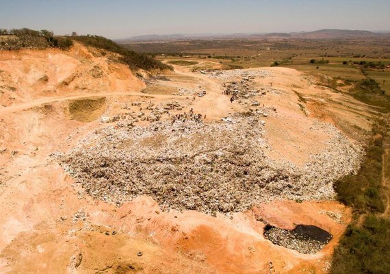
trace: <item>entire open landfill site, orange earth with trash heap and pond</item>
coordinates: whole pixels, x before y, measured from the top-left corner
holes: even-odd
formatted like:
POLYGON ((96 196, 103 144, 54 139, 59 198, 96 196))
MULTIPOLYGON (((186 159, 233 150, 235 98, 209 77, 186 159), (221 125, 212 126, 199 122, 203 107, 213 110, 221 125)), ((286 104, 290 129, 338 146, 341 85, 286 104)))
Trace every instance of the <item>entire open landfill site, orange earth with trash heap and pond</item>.
POLYGON ((367 105, 295 69, 113 54, 0 51, 0 273, 327 273, 367 105))

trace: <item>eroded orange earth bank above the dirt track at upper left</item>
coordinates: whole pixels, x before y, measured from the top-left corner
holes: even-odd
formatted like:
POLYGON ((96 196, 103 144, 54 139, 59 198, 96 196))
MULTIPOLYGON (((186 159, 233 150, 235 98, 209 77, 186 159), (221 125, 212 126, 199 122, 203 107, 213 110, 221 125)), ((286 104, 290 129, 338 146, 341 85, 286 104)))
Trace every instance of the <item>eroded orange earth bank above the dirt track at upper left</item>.
POLYGON ((77 92, 139 91, 144 86, 116 54, 102 55, 78 43, 68 51, 0 51, 0 108, 77 92))

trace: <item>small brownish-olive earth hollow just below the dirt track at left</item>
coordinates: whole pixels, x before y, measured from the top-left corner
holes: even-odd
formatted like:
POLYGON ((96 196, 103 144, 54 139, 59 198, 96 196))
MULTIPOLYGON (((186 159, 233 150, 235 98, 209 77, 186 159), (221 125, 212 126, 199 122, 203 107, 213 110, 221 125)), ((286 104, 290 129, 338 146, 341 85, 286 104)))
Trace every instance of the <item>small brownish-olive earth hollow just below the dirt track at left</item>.
POLYGON ((69 101, 70 119, 79 122, 91 122, 98 119, 105 111, 105 101, 105 97, 69 101))

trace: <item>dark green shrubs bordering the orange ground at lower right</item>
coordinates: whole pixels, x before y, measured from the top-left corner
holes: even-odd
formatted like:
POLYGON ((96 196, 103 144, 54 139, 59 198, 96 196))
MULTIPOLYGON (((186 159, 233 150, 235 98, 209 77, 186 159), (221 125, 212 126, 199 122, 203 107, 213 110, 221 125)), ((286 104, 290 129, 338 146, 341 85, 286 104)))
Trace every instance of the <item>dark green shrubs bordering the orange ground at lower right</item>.
MULTIPOLYGON (((390 98, 374 79, 362 79, 352 94, 381 112, 390 111, 390 98)), ((330 273, 390 273, 390 221, 380 216, 385 205, 382 200, 382 166, 384 140, 389 134, 388 116, 378 119, 365 160, 356 175, 348 175, 335 183, 337 199, 354 208, 354 221, 348 226, 333 254, 330 273), (363 218, 363 224, 359 219, 363 218)), ((389 201, 387 201, 389 202, 389 201)))

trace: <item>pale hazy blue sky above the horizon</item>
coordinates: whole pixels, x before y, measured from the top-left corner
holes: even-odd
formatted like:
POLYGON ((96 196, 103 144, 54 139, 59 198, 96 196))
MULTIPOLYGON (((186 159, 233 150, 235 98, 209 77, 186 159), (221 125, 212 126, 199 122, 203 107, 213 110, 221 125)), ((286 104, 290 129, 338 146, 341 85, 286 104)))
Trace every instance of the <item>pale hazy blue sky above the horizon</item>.
POLYGON ((0 28, 142 34, 390 29, 390 0, 0 0, 0 28))

